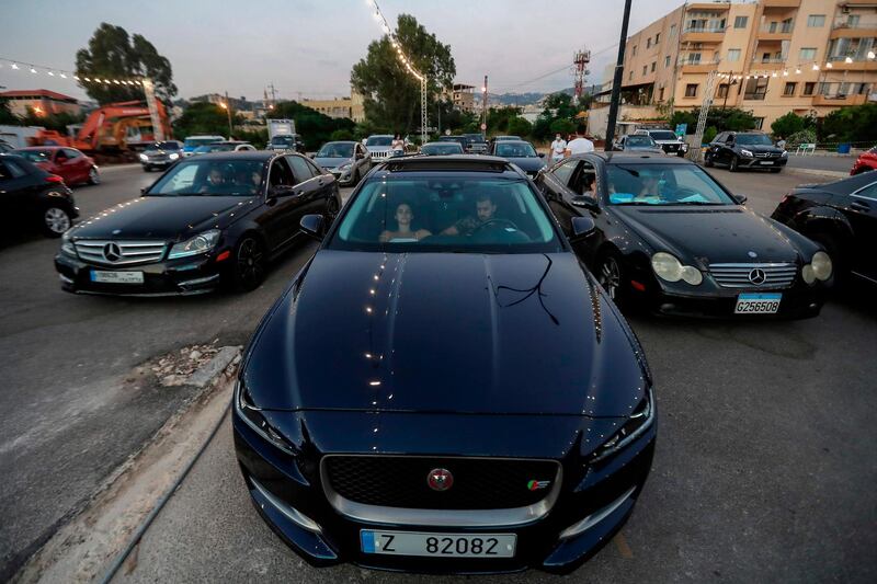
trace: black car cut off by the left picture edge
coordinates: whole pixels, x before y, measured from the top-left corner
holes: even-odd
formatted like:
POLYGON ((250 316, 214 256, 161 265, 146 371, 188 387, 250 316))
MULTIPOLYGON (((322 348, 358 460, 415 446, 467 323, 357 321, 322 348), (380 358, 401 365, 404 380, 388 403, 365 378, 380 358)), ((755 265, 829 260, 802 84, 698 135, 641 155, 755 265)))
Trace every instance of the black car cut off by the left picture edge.
POLYGON ((24 157, 0 152, 0 225, 4 231, 39 229, 59 238, 79 217, 64 179, 24 157))

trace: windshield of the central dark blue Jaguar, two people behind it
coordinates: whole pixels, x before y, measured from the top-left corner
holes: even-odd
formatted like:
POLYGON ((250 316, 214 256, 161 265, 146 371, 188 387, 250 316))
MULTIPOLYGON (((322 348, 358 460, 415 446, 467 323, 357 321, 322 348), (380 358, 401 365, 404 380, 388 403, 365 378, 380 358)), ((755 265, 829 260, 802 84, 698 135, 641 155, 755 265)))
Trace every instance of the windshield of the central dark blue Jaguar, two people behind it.
POLYGON ((525 181, 435 173, 365 184, 328 247, 464 253, 562 249, 551 219, 525 181))

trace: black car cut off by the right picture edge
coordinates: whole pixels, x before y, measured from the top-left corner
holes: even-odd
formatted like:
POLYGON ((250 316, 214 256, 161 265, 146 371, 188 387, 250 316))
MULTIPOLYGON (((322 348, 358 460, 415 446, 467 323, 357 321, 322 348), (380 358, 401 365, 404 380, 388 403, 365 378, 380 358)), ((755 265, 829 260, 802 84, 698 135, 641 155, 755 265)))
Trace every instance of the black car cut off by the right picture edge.
POLYGON ((877 173, 798 186, 772 217, 821 244, 841 282, 877 284, 877 173))

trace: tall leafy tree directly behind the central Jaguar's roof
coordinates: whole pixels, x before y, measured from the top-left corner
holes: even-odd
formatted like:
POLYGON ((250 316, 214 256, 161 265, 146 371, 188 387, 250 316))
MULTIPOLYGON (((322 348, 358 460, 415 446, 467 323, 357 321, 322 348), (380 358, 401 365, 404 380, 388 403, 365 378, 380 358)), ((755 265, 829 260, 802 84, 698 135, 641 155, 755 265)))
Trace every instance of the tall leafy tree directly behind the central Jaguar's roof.
MULTIPOLYGON (((399 14, 396 39, 412 67, 426 76, 428 111, 434 112, 433 96, 449 88, 457 72, 451 46, 440 43, 409 14, 399 14)), ((402 134, 420 127, 420 81, 400 62, 389 36, 368 45, 365 58, 353 66, 350 81, 353 91, 364 95, 369 124, 402 134)))

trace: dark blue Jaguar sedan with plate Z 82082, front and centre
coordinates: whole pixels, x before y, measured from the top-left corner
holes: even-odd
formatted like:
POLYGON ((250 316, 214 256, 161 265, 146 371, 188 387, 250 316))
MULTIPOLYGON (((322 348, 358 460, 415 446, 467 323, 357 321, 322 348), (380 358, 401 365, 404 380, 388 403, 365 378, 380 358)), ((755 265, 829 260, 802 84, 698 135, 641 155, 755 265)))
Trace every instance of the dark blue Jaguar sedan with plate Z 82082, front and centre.
MULTIPOLYGON (((257 511, 308 562, 568 572, 639 496, 652 378, 532 182, 375 169, 253 334, 235 389, 257 511)), ((593 221, 573 221, 573 238, 593 221)))

